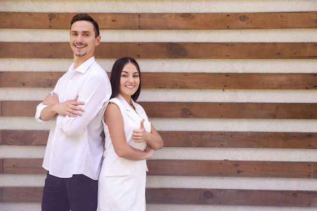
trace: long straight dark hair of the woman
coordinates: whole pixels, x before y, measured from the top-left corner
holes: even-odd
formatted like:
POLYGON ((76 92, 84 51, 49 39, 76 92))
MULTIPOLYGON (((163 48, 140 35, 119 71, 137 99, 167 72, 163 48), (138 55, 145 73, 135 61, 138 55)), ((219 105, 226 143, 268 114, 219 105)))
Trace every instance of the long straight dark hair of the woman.
POLYGON ((141 92, 141 72, 140 72, 139 64, 137 63, 137 61, 135 61, 135 59, 131 57, 122 57, 120 59, 117 59, 112 66, 111 75, 110 75, 112 94, 110 99, 116 97, 119 94, 121 72, 124 66, 128 63, 134 64, 139 72, 140 85, 138 90, 131 96, 134 102, 139 98, 139 95, 141 92))

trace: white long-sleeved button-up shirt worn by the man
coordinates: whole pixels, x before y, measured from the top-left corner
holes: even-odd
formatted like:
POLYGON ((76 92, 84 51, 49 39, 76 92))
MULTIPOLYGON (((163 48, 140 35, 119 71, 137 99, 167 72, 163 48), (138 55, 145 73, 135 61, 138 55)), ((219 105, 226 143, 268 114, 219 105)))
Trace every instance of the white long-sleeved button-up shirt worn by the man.
MULTIPOLYGON (((58 115, 47 121, 51 130, 45 151, 43 167, 50 175, 70 178, 83 174, 98 180, 103 153, 102 115, 105 103, 111 96, 111 85, 107 73, 92 57, 58 80, 54 91, 59 102, 75 99, 85 102, 82 116, 70 117, 58 115)), ((36 107, 35 119, 40 119, 46 105, 36 107)))

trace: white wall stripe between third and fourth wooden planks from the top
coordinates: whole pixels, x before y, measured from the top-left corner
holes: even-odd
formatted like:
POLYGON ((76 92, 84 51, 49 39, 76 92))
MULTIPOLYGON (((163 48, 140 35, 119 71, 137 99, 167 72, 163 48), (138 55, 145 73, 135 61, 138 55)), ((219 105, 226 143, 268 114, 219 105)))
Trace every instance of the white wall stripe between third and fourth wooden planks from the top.
MULTIPOLYGON (((3 88, 0 101, 42 101, 53 88, 3 88)), ((317 90, 143 89, 138 102, 317 103, 317 90)))

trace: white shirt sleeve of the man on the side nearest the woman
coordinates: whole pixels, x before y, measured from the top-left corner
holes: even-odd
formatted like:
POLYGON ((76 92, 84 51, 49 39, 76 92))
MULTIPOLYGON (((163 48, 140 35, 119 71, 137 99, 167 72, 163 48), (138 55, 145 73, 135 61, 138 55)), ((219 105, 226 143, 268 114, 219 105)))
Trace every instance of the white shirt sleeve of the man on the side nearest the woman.
POLYGON ((82 112, 82 116, 77 117, 58 115, 57 128, 70 136, 82 134, 91 120, 101 111, 110 95, 110 81, 104 75, 96 74, 86 78, 78 91, 77 99, 77 101, 85 102, 85 105, 81 106, 85 111, 82 112))

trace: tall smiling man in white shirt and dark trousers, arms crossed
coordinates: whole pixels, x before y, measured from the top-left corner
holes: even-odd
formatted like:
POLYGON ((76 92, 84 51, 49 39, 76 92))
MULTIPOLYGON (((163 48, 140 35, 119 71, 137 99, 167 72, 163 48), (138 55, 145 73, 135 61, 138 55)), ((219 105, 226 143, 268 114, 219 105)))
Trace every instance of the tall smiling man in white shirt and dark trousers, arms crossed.
POLYGON ((52 122, 43 167, 43 211, 95 211, 103 153, 102 115, 111 96, 106 72, 94 57, 99 26, 89 15, 71 20, 74 63, 36 107, 35 119, 52 122), (53 120, 53 121, 52 121, 53 120))

